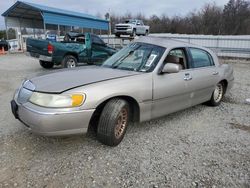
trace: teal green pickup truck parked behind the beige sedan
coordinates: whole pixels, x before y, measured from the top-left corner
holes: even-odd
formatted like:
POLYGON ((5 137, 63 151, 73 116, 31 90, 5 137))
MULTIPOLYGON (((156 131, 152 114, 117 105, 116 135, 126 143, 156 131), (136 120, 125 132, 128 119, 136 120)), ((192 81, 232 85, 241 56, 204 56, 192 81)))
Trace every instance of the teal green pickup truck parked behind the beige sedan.
POLYGON ((73 68, 79 63, 101 63, 117 52, 90 33, 69 32, 62 42, 28 38, 26 45, 27 55, 39 59, 46 69, 54 65, 73 68))

